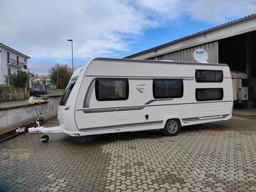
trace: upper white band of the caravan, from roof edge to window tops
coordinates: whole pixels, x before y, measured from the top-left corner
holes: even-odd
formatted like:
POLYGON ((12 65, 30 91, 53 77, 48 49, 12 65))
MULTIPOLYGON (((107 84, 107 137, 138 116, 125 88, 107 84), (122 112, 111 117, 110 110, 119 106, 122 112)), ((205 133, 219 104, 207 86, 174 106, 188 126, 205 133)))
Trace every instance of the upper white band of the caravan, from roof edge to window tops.
POLYGON ((191 74, 194 74, 195 68, 208 69, 209 66, 212 70, 223 70, 223 76, 230 78, 230 70, 226 64, 113 58, 95 58, 91 60, 86 66, 84 75, 128 78, 194 78, 194 75, 191 74))

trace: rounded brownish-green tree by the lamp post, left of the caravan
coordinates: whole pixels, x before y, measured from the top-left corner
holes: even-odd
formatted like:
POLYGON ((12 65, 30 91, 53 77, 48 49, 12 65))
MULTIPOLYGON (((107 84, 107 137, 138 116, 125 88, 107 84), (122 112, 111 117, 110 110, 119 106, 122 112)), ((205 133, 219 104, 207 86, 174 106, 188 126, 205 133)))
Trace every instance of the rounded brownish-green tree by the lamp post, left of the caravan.
POLYGON ((72 76, 72 69, 67 65, 55 65, 49 70, 50 80, 57 88, 65 89, 72 76))

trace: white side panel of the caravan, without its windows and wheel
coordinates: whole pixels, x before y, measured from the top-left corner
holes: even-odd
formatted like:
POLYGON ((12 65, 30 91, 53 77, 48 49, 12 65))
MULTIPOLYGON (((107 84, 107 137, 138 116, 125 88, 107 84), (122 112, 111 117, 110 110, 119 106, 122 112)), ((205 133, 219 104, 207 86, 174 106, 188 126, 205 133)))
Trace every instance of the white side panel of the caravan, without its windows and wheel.
POLYGON ((226 65, 167 65, 96 60, 90 64, 82 78, 75 107, 75 122, 80 134, 162 129, 166 120, 174 117, 180 119, 182 126, 228 119, 232 107, 232 83, 226 65), (196 69, 209 68, 223 70, 223 82, 196 82, 196 69), (95 82, 99 78, 128 79, 128 99, 96 100, 95 82), (155 99, 152 82, 158 78, 182 79, 183 97, 155 99), (196 89, 206 87, 222 88, 223 100, 197 101, 196 89))

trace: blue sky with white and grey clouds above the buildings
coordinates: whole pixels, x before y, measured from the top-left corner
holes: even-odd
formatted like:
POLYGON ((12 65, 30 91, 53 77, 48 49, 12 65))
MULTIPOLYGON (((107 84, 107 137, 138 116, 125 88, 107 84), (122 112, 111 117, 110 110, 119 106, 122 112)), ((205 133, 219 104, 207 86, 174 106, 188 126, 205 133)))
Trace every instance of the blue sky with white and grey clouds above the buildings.
POLYGON ((91 58, 123 58, 256 13, 256 0, 0 0, 0 42, 48 74, 91 58))

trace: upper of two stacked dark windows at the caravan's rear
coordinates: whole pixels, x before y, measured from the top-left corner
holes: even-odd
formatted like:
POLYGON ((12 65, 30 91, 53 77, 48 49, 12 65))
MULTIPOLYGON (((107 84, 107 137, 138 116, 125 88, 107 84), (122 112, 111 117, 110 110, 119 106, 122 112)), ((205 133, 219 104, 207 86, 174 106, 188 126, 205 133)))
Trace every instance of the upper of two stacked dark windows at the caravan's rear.
POLYGON ((196 70, 196 82, 222 82, 222 70, 196 70))

